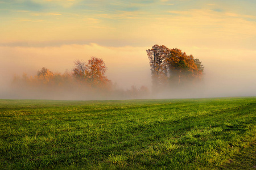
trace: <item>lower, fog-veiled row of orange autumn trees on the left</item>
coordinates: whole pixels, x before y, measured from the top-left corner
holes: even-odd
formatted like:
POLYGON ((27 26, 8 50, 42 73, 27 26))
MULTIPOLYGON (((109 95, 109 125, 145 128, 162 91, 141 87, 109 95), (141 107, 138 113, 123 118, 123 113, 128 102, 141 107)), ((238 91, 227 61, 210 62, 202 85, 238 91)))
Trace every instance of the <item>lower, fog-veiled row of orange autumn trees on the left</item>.
POLYGON ((23 73, 13 79, 14 96, 27 99, 110 100, 147 98, 146 86, 131 86, 123 90, 105 75, 107 67, 101 58, 92 57, 88 62, 74 61, 71 71, 53 73, 43 67, 34 76, 23 73))

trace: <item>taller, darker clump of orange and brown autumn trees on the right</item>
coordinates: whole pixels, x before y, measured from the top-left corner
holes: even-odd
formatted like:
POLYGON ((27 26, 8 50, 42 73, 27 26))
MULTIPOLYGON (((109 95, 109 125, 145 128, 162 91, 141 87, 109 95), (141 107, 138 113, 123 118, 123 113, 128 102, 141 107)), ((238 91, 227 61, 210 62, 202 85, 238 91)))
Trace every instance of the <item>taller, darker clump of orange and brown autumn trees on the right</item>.
POLYGON ((164 45, 154 45, 146 51, 150 60, 154 94, 200 82, 204 66, 199 59, 188 56, 180 49, 169 49, 164 45))

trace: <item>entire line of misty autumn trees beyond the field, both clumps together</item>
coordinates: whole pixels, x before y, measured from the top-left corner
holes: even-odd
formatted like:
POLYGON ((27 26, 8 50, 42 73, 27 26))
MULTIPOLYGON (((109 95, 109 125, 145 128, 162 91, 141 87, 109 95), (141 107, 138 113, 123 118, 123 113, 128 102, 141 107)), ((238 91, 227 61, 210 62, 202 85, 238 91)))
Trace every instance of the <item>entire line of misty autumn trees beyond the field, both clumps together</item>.
POLYGON ((105 75, 105 62, 92 57, 87 62, 77 59, 73 69, 65 73, 53 73, 43 67, 34 76, 26 73, 15 76, 13 94, 22 99, 64 100, 143 99, 161 97, 157 96, 161 93, 162 97, 177 97, 189 93, 201 81, 204 66, 192 55, 164 45, 154 45, 146 52, 151 66, 152 92, 146 86, 119 88, 105 75))

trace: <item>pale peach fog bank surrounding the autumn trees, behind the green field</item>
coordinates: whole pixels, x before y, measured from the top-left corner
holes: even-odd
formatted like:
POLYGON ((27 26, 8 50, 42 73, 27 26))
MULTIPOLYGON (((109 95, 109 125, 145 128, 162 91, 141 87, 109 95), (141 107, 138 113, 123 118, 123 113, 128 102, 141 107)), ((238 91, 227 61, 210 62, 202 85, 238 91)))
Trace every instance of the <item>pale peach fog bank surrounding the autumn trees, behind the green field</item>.
MULTIPOLYGON (((152 44, 154 45, 154 44, 152 44)), ((151 46, 152 46, 151 45, 151 46)), ((162 45, 162 44, 159 44, 162 45)), ((256 96, 256 51, 246 49, 199 48, 171 46, 199 58, 205 66, 201 83, 159 92, 158 95, 132 97, 121 94, 102 96, 88 90, 32 90, 12 84, 14 75, 34 76, 46 67, 53 72, 71 71, 75 59, 88 61, 102 58, 108 67, 106 76, 115 87, 129 93, 131 86, 146 86, 151 90, 151 71, 146 49, 151 46, 101 46, 98 44, 60 46, 0 46, 0 99, 54 100, 119 100, 119 99, 176 99, 198 97, 256 96), (19 87, 19 88, 16 88, 19 87)))

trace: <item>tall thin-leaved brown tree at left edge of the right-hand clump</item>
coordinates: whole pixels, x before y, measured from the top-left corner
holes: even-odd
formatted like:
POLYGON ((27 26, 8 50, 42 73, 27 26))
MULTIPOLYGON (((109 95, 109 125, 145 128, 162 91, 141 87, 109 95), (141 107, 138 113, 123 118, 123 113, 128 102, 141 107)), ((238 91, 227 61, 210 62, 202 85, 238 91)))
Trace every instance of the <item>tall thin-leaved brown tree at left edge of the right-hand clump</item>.
POLYGON ((167 82, 167 62, 166 58, 170 49, 164 45, 154 45, 152 49, 146 50, 148 59, 150 59, 152 90, 158 91, 160 85, 167 82))

